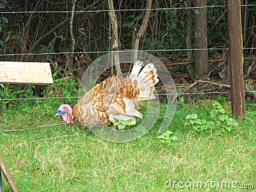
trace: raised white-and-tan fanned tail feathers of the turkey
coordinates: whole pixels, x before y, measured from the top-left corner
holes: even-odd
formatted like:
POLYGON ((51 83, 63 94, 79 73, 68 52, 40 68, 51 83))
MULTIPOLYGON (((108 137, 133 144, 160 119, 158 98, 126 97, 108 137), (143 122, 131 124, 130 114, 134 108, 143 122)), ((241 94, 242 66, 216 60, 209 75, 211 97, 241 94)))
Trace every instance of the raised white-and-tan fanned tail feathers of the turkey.
POLYGON ((158 83, 159 79, 157 78, 156 68, 153 63, 149 63, 143 67, 143 62, 136 61, 129 78, 140 88, 138 100, 156 99, 153 94, 154 85, 158 83))

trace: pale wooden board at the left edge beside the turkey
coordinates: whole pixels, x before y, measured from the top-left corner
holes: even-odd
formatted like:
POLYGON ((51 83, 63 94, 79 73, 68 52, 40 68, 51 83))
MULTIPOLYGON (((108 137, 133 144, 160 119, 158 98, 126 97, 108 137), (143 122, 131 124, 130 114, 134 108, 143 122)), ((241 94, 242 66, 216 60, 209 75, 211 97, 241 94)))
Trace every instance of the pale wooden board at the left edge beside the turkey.
POLYGON ((52 84, 50 64, 0 61, 0 83, 52 84))

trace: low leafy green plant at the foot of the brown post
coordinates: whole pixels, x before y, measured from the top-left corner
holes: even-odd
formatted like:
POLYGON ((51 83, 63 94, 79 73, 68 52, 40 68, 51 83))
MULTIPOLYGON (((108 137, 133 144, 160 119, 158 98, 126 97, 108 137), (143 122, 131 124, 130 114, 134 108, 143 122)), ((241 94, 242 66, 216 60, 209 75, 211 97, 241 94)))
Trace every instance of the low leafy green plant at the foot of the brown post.
POLYGON ((196 113, 187 115, 185 125, 191 125, 197 132, 204 130, 231 131, 237 126, 236 120, 227 115, 219 102, 213 102, 210 106, 209 118, 199 118, 196 113))

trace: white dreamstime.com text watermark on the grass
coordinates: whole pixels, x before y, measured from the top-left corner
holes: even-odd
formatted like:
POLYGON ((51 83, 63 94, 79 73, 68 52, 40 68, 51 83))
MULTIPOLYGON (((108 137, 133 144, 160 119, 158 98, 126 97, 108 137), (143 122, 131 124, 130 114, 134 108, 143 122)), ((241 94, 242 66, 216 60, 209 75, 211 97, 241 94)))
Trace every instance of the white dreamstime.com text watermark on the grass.
POLYGON ((181 180, 173 180, 169 179, 166 180, 164 183, 165 188, 178 188, 178 189, 184 189, 184 188, 192 188, 192 189, 205 189, 205 188, 212 188, 212 189, 253 189, 253 184, 239 184, 237 181, 230 182, 229 180, 223 180, 223 177, 221 174, 217 174, 215 176, 216 180, 208 180, 208 181, 186 181, 183 182, 181 180))

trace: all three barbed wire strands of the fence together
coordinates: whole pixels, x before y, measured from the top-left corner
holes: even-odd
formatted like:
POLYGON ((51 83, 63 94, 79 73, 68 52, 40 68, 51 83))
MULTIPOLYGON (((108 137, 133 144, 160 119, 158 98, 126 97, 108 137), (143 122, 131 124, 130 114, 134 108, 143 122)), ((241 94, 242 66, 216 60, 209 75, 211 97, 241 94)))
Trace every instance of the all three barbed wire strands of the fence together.
MULTIPOLYGON (((242 7, 254 7, 256 4, 242 4, 242 7)), ((176 8, 138 8, 138 9, 116 9, 113 10, 115 12, 127 12, 127 11, 168 11, 168 10, 188 10, 188 9, 202 9, 202 8, 227 8, 226 5, 212 5, 212 6, 192 6, 192 7, 176 7, 176 8)), ((99 13, 99 12, 111 12, 111 10, 77 10, 77 11, 18 11, 18 12, 1 12, 1 14, 48 14, 48 13, 99 13)), ((246 47, 243 48, 244 50, 248 49, 256 49, 256 47, 246 47)), ((174 51, 228 51, 228 47, 223 48, 207 48, 207 49, 147 49, 147 50, 141 50, 145 52, 174 52, 174 51)), ((132 51, 132 50, 131 50, 132 51)), ((97 53, 97 54, 106 54, 108 52, 113 51, 79 51, 79 52, 36 52, 36 53, 8 53, 8 54, 0 54, 0 56, 35 56, 35 55, 59 55, 59 54, 88 54, 88 53, 97 53)), ((127 52, 127 50, 120 50, 118 52, 127 52)), ((254 58, 245 58, 245 59, 254 59, 254 58)), ((177 93, 178 96, 180 95, 204 95, 204 94, 225 94, 228 92, 191 92, 191 93, 177 93)), ((255 94, 255 91, 247 90, 245 93, 253 93, 255 94)), ((166 94, 159 94, 159 95, 166 95, 166 94)), ((11 101, 11 100, 46 100, 46 99, 79 99, 79 97, 31 97, 31 98, 0 98, 0 100, 3 101, 11 101)))

